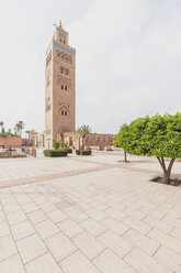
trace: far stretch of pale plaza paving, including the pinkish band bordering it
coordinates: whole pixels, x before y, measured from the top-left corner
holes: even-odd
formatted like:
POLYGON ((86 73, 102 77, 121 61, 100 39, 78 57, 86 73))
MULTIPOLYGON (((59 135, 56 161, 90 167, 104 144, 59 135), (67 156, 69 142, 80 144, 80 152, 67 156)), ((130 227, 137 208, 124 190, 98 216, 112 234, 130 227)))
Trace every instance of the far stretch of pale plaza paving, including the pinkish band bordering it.
MULTIPOLYGON (((145 174, 149 171, 152 176, 161 175, 160 166, 155 157, 129 155, 132 162, 127 164, 121 161, 122 157, 122 152, 97 152, 93 156, 84 157, 71 154, 61 159, 47 159, 42 155, 37 159, 0 159, 0 187, 50 181, 114 167, 145 174)), ((174 163, 172 176, 181 178, 180 165, 181 162, 174 163)))

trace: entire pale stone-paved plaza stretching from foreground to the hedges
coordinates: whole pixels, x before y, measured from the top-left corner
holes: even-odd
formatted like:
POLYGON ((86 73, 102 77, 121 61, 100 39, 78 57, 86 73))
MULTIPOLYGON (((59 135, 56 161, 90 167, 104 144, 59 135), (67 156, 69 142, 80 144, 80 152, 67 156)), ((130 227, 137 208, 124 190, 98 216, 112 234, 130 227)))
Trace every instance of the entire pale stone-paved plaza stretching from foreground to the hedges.
POLYGON ((181 273, 181 186, 149 181, 155 159, 122 160, 0 160, 0 273, 181 273))

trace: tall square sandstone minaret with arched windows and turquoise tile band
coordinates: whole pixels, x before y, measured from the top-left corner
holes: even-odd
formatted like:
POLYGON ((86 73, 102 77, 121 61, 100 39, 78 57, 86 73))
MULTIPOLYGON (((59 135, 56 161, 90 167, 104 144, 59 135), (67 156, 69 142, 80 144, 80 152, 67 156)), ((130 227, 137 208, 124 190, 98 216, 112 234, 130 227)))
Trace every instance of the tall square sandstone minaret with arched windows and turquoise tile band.
POLYGON ((76 122, 76 50, 68 44, 61 21, 46 51, 45 68, 46 148, 58 134, 73 132, 76 122))

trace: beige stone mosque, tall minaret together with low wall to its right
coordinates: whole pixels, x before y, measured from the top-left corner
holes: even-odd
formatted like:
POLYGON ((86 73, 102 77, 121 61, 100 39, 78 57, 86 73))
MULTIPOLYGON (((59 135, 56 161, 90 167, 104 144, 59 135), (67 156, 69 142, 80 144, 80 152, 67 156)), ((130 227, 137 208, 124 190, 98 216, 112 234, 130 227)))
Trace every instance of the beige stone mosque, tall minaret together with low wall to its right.
POLYGON ((113 134, 76 132, 76 50, 69 46, 61 22, 46 51, 45 99, 46 148, 53 146, 53 140, 67 142, 75 149, 103 150, 112 145, 113 134))

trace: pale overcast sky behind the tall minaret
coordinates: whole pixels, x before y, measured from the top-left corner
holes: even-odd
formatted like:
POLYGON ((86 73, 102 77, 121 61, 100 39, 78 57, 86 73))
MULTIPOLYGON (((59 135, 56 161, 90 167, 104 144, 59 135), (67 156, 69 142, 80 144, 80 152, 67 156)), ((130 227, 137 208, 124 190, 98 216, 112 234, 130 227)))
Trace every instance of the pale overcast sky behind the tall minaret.
POLYGON ((181 0, 0 0, 0 120, 44 131, 45 51, 63 20, 77 50, 77 127, 181 111, 181 0))

